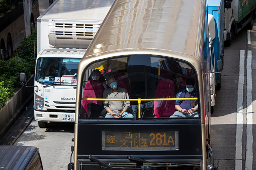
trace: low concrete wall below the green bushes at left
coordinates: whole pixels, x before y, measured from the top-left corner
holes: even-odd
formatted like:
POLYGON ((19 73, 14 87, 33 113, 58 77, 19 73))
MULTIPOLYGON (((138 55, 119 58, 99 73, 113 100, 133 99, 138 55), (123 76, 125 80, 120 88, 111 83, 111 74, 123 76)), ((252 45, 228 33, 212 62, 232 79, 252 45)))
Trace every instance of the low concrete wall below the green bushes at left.
MULTIPOLYGON (((34 75, 28 80, 27 85, 34 85, 34 75)), ((0 139, 12 127, 25 107, 34 99, 34 87, 21 87, 0 110, 0 139)))

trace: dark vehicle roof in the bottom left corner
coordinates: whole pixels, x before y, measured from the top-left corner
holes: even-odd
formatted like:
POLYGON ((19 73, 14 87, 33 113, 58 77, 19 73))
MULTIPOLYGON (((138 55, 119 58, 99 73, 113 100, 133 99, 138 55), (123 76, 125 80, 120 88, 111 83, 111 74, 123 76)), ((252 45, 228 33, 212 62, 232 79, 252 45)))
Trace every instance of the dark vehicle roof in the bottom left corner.
POLYGON ((26 169, 31 158, 38 152, 33 146, 0 146, 1 169, 26 169))

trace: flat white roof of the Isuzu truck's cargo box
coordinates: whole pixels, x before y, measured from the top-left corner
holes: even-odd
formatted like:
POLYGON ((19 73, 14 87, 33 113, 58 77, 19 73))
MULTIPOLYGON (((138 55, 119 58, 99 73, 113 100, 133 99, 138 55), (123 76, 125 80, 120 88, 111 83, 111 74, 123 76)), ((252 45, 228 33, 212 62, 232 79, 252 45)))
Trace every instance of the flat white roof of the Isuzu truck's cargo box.
POLYGON ((39 19, 104 20, 114 0, 56 0, 39 19))

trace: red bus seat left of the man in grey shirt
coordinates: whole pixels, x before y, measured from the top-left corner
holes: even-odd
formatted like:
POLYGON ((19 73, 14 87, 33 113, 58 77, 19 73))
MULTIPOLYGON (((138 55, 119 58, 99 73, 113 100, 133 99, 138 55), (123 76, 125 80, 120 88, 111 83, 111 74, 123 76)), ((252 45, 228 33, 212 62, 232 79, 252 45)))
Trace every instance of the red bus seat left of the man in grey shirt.
MULTIPOLYGON (((82 98, 102 98, 103 86, 98 80, 89 80, 84 87, 82 98)), ((95 103, 102 107, 102 101, 82 100, 82 107, 88 113, 88 104, 95 103)))

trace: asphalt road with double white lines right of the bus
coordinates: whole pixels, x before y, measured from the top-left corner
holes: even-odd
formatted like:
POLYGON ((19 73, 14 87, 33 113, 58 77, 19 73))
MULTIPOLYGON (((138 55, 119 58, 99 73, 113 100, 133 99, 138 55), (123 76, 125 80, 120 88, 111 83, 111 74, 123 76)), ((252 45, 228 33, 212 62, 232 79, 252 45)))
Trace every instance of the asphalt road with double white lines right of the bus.
POLYGON ((256 109, 253 90, 256 81, 255 30, 255 26, 250 32, 242 30, 231 46, 225 47, 221 89, 216 92, 211 119, 212 148, 219 170, 256 169, 256 156, 253 156, 256 154, 253 142, 256 136, 253 131, 256 109))

